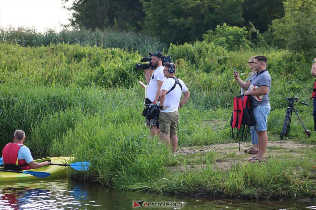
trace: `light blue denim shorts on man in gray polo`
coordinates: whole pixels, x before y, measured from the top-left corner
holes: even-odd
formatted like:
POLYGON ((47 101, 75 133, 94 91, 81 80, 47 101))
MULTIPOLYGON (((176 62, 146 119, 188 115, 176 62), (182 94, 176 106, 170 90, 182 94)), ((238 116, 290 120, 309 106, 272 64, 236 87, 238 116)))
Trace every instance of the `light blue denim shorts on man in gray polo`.
POLYGON ((256 120, 256 125, 254 126, 254 130, 257 132, 266 131, 267 130, 267 121, 268 115, 270 114, 270 104, 254 106, 253 107, 253 116, 256 120))

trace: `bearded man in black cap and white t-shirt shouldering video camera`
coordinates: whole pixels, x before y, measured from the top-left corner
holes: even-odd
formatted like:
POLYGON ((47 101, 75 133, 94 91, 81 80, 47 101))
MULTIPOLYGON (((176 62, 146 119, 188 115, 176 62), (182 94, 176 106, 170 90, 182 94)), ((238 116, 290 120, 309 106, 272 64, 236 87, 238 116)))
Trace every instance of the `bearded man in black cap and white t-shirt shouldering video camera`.
MULTIPOLYGON (((155 51, 154 53, 149 53, 151 55, 151 63, 155 71, 152 73, 151 77, 149 76, 149 69, 144 69, 146 82, 148 84, 147 97, 145 99, 145 104, 150 104, 157 102, 160 97, 160 88, 165 77, 163 76, 163 66, 162 58, 163 54, 160 51, 155 51)), ((150 136, 155 136, 160 134, 159 128, 157 128, 158 119, 146 120, 148 127, 150 128, 150 136)))

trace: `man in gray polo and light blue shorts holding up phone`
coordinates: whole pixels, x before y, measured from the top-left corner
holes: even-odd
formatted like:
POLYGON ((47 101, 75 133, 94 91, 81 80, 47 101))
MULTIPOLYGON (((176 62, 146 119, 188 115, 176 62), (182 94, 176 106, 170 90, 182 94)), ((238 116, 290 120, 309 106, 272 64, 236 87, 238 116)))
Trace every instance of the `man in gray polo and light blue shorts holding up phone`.
POLYGON ((261 162, 264 160, 265 149, 268 143, 267 134, 267 119, 270 114, 270 102, 269 102, 269 92, 271 87, 271 77, 266 70, 268 59, 263 55, 258 55, 255 57, 253 66, 255 67, 256 73, 248 82, 243 82, 239 78, 239 73, 234 74, 234 78, 237 80, 239 86, 244 89, 244 95, 258 96, 263 95, 262 101, 257 101, 254 97, 250 97, 252 100, 253 115, 256 120, 256 131, 258 133, 258 154, 249 159, 250 162, 261 162), (258 90, 249 91, 249 86, 254 85, 260 87, 258 90))

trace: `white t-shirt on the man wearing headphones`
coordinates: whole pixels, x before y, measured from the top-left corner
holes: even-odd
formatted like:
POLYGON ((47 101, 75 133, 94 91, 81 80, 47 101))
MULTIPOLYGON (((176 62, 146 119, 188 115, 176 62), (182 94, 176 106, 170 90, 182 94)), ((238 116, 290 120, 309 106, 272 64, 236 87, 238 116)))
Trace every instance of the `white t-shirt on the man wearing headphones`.
MULTIPOLYGON (((167 90, 168 92, 173 87, 175 82, 176 81, 173 78, 166 79, 161 86, 161 90, 167 90)), ((161 112, 174 112, 179 110, 178 106, 180 103, 181 95, 183 92, 188 90, 182 80, 179 79, 179 83, 182 86, 182 90, 179 84, 177 84, 176 87, 166 95, 163 106, 168 108, 160 110, 161 112)))

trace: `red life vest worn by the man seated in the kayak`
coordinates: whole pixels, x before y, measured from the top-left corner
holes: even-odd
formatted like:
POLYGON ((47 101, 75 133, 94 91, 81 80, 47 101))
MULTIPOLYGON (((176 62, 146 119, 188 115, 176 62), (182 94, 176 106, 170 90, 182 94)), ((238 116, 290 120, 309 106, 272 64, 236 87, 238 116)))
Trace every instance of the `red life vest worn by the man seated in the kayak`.
POLYGON ((20 147, 24 146, 23 144, 15 144, 15 143, 9 143, 4 146, 2 150, 2 159, 4 167, 6 167, 6 164, 14 164, 21 168, 21 170, 28 170, 31 169, 27 162, 24 159, 18 160, 18 152, 20 150, 20 147))

